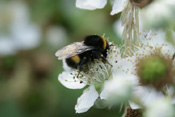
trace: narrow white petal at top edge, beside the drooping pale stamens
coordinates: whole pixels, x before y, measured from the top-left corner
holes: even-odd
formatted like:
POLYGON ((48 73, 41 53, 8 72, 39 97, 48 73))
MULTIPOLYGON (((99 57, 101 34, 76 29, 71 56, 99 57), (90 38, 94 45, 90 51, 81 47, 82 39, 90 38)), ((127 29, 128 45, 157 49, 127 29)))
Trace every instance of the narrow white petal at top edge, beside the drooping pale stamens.
POLYGON ((127 0, 115 0, 112 7, 111 15, 121 12, 126 6, 126 2, 127 0))

